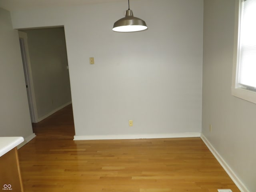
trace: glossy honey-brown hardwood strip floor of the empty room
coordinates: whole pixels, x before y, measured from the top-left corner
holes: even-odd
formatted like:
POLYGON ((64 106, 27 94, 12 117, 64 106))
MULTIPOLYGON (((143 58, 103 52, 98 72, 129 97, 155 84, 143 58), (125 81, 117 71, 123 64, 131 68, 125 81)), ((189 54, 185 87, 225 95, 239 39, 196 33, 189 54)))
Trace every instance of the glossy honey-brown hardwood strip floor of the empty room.
POLYGON ((240 191, 200 138, 74 141, 58 121, 18 150, 25 192, 240 191))

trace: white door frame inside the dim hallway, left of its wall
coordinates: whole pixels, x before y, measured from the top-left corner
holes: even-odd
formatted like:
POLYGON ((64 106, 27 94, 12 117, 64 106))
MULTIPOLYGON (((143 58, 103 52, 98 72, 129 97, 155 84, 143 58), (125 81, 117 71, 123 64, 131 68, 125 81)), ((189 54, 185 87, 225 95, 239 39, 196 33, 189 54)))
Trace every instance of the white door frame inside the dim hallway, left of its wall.
POLYGON ((19 38, 22 39, 21 40, 22 43, 20 44, 20 49, 22 54, 24 75, 25 75, 26 86, 27 86, 26 89, 28 94, 28 104, 30 109, 31 122, 36 123, 38 122, 38 113, 37 113, 37 107, 36 107, 36 96, 34 91, 30 56, 28 51, 28 36, 25 32, 19 31, 18 33, 19 33, 19 38))

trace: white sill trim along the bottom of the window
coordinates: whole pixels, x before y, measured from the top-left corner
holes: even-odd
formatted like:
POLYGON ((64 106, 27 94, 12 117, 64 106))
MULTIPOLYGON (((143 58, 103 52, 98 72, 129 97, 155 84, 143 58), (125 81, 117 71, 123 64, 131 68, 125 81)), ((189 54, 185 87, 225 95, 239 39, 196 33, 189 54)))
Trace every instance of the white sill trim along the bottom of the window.
POLYGON ((250 90, 246 90, 243 88, 234 88, 232 87, 231 89, 231 93, 233 96, 241 98, 243 100, 252 102, 256 104, 256 92, 250 91, 250 90))

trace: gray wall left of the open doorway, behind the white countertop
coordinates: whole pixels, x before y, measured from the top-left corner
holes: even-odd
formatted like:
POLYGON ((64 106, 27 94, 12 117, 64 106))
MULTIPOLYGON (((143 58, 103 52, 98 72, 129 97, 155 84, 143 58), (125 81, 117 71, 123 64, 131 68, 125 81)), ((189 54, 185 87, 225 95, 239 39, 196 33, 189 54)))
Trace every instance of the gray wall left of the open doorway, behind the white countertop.
POLYGON ((0 8, 0 136, 33 134, 19 36, 10 12, 0 8))

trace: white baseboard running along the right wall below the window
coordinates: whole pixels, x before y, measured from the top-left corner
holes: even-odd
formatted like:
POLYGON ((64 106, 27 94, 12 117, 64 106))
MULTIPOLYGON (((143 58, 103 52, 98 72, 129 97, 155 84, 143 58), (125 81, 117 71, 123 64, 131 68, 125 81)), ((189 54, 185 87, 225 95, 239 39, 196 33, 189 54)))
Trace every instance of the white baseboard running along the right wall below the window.
POLYGON ((212 152, 214 157, 218 160, 222 168, 226 171, 226 173, 230 176, 232 181, 236 184, 236 186, 239 188, 241 192, 249 192, 249 190, 246 188, 246 186, 243 184, 243 182, 238 178, 238 176, 234 173, 234 171, 228 166, 226 161, 220 156, 220 154, 215 150, 215 148, 212 146, 212 144, 209 142, 209 140, 204 136, 204 134, 201 134, 201 139, 204 141, 206 146, 209 148, 209 150, 212 152))

